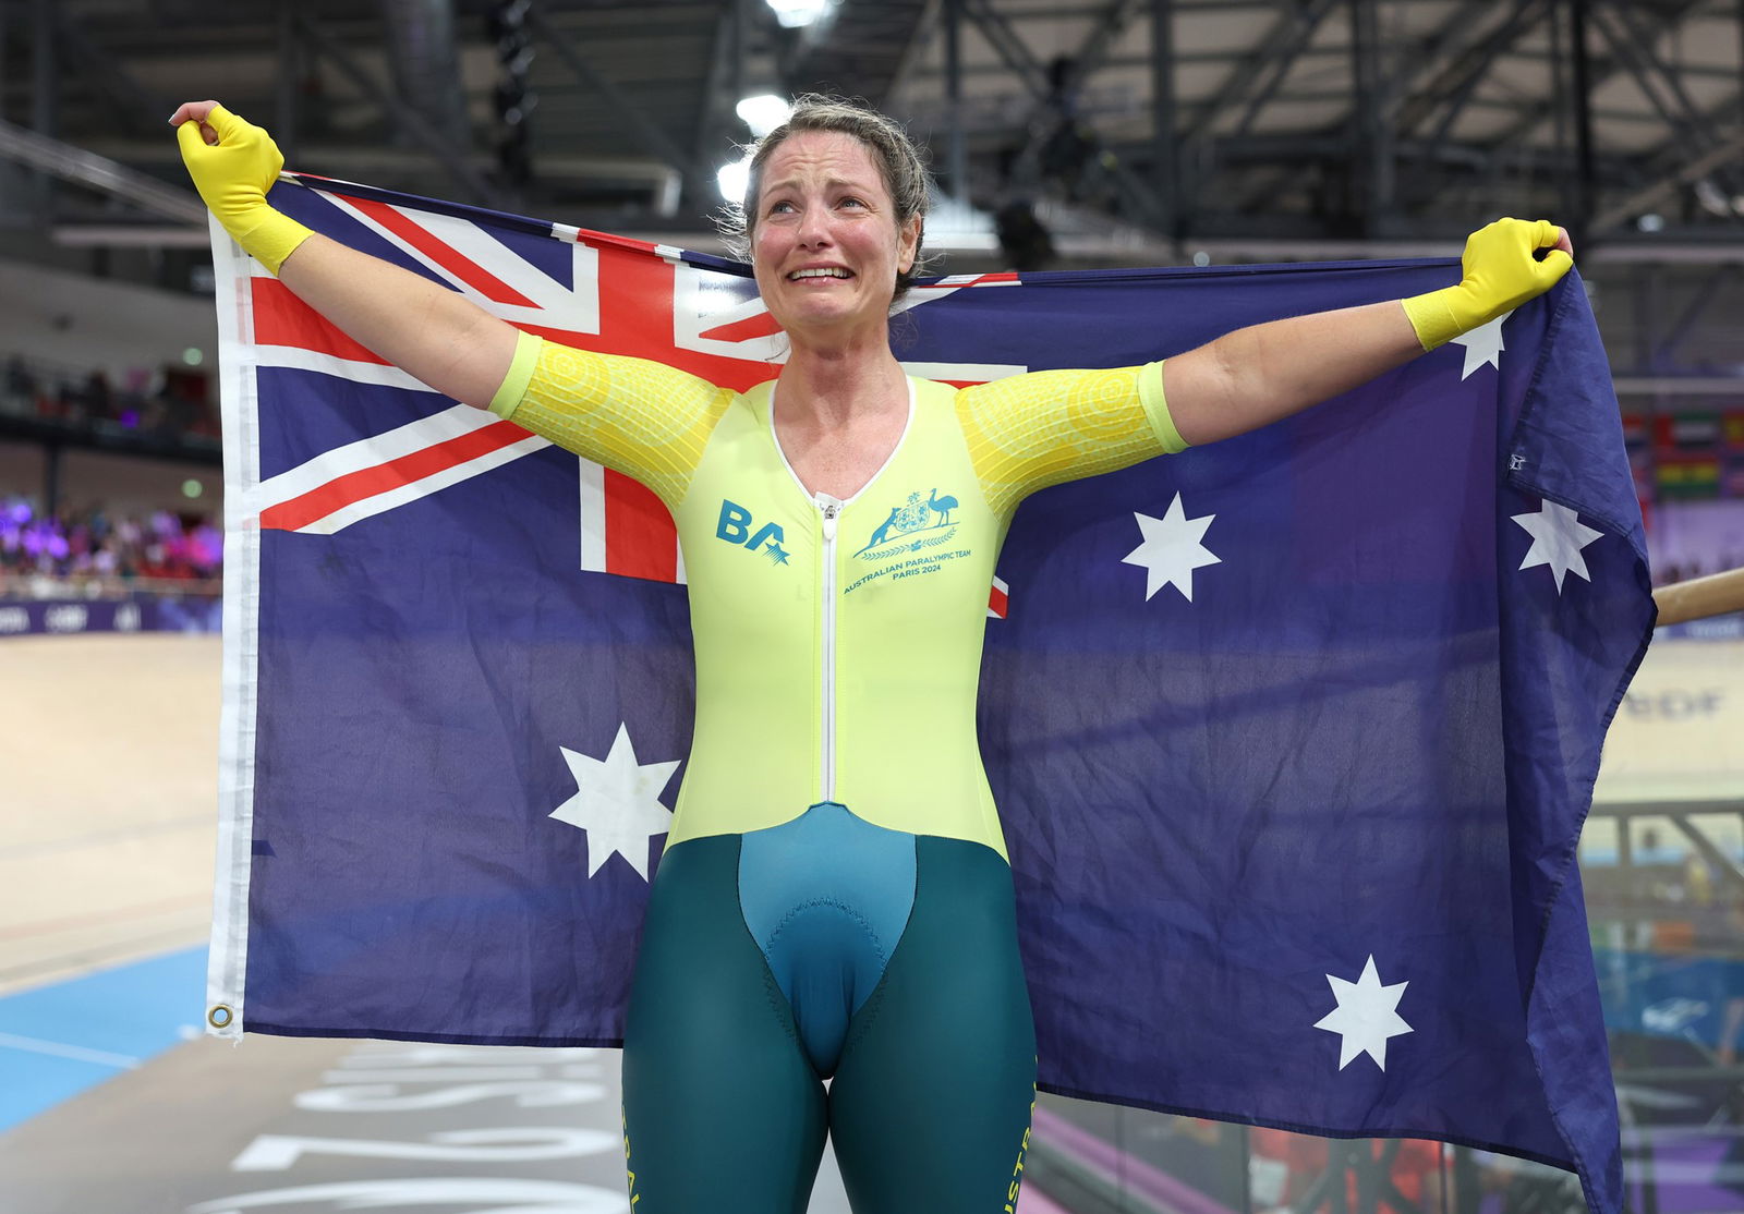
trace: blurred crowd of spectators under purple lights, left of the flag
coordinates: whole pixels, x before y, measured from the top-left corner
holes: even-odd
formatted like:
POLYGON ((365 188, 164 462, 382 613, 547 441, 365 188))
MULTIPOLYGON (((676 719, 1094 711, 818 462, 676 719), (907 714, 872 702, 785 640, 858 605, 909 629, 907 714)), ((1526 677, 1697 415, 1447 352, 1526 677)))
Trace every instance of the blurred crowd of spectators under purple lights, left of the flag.
POLYGON ((223 534, 199 515, 112 516, 101 506, 40 516, 23 497, 0 499, 0 597, 105 593, 138 577, 218 577, 223 534))

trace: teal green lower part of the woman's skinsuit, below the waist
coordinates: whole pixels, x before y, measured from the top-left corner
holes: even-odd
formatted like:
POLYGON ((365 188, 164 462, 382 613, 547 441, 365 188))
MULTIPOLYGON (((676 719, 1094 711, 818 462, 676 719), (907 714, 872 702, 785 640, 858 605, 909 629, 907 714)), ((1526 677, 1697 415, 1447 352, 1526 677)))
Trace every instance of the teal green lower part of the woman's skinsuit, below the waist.
POLYGON ((804 1214, 827 1134, 856 1214, 1005 1214, 1034 1094, 994 849, 821 802, 661 856, 624 1031, 637 1214, 804 1214))

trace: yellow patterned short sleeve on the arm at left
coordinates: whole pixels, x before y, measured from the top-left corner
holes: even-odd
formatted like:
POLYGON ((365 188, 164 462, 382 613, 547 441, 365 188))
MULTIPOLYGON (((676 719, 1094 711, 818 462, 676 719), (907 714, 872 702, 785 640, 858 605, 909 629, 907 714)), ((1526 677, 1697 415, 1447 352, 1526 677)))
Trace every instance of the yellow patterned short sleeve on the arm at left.
POLYGON ((689 372, 521 333, 497 417, 624 473, 677 508, 732 392, 689 372))

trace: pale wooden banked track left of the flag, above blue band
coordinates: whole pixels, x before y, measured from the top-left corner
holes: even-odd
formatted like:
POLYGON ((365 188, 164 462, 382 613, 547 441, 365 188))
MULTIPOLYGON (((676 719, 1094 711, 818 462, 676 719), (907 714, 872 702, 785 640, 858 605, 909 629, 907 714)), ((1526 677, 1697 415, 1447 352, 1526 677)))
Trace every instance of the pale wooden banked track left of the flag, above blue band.
POLYGON ((9 638, 0 689, 0 996, 201 944, 218 638, 9 638))

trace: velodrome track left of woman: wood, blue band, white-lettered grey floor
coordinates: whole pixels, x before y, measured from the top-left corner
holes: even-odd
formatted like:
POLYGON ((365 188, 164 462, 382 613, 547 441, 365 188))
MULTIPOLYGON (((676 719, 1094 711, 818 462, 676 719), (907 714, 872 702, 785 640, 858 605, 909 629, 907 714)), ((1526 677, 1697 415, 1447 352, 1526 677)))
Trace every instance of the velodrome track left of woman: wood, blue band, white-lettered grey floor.
MULTIPOLYGON (((195 1033, 218 670, 0 640, 0 1214, 628 1211, 616 1050, 195 1033)), ((848 1212, 828 1153, 811 1209, 848 1212)))

